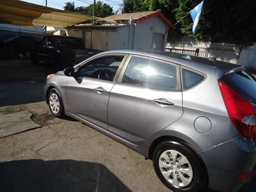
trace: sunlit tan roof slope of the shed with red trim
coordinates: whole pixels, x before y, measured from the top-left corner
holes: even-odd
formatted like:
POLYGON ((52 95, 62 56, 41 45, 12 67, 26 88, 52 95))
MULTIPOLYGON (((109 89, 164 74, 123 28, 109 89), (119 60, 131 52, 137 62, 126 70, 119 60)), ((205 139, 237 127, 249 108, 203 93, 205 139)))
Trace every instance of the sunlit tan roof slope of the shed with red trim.
POLYGON ((109 17, 105 17, 104 19, 113 19, 113 20, 129 20, 130 17, 132 19, 140 19, 141 17, 145 17, 148 15, 151 15, 156 12, 138 12, 138 13, 124 13, 124 14, 117 14, 117 15, 111 15, 109 17))

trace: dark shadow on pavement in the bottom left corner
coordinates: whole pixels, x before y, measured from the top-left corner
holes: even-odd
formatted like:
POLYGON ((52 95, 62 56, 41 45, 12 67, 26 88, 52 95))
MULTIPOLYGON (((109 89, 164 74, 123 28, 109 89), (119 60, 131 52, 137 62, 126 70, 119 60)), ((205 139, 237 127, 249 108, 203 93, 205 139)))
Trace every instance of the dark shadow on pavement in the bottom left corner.
POLYGON ((1 191, 131 191, 99 163, 28 159, 0 163, 1 191))

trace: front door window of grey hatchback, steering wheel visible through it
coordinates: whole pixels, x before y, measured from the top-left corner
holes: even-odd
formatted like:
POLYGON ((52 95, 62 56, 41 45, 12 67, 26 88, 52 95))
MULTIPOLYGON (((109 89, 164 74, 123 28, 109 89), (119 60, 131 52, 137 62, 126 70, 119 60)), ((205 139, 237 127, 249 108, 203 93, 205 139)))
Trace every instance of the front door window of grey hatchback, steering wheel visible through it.
POLYGON ((79 69, 80 77, 113 81, 124 56, 107 56, 94 60, 79 69))

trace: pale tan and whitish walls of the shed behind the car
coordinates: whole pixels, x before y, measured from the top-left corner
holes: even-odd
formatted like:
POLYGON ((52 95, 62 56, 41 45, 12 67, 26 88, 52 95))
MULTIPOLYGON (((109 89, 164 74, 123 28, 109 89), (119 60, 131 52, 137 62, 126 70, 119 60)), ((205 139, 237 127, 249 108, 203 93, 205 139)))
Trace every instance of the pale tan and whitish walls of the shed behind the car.
MULTIPOLYGON (((159 17, 143 20, 136 25, 112 27, 92 27, 83 29, 67 28, 68 36, 82 38, 85 47, 102 51, 113 49, 146 49, 152 48, 153 33, 164 35, 163 50, 166 45, 168 28, 159 17), (92 38, 86 38, 86 31, 92 31, 92 38), (83 35, 84 34, 84 35, 83 35), (90 39, 92 39, 90 41, 90 39), (87 42, 86 42, 87 41, 87 42), (89 46, 88 46, 89 45, 89 46)), ((89 49, 89 48, 88 48, 89 49)))

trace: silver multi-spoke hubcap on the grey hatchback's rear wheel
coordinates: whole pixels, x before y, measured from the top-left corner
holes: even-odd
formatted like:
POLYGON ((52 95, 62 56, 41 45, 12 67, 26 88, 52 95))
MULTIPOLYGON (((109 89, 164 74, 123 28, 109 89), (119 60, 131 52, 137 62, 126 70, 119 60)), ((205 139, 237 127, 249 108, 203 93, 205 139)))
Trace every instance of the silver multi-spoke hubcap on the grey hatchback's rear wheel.
POLYGON ((175 187, 185 187, 191 183, 193 170, 186 156, 176 150, 166 150, 159 157, 162 175, 175 187))

